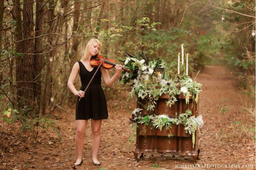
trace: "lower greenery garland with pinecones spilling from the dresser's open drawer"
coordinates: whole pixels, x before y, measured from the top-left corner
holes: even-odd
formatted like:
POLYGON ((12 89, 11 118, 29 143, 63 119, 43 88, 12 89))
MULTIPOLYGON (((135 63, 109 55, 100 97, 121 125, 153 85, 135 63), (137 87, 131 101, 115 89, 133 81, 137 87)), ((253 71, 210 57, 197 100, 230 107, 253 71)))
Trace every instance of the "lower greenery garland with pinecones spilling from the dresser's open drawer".
MULTIPOLYGON (((138 127, 138 124, 145 124, 145 126, 151 126, 151 129, 156 128, 162 131, 163 127, 166 126, 166 130, 169 130, 173 124, 179 125, 182 124, 185 126, 185 132, 192 135, 192 144, 194 147, 195 143, 195 131, 196 129, 200 129, 203 126, 202 115, 198 117, 191 116, 192 112, 187 110, 185 113, 173 115, 142 115, 142 109, 134 109, 132 112, 132 118, 130 119, 130 123, 134 123, 134 127, 138 127)), ((133 129, 134 133, 136 133, 136 128, 133 129)), ((169 134, 168 136, 173 136, 169 134)))

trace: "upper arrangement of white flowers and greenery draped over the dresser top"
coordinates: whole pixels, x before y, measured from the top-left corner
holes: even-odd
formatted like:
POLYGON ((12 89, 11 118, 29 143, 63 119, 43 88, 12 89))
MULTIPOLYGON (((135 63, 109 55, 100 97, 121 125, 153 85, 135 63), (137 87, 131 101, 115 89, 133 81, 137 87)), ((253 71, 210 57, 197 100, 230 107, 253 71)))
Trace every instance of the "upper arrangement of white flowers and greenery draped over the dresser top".
MULTIPOLYGON (((156 66, 160 65, 164 68, 165 62, 157 59, 149 61, 149 58, 145 52, 142 52, 139 56, 132 56, 126 53, 124 65, 130 72, 122 72, 121 81, 123 84, 129 83, 133 80, 132 90, 130 97, 137 95, 144 99, 148 97, 148 111, 154 110, 156 100, 163 94, 169 94, 167 105, 170 107, 177 101, 176 95, 183 93, 186 96, 186 103, 189 104, 189 97, 192 96, 193 101, 198 102, 199 92, 201 90, 201 84, 192 81, 185 75, 178 75, 175 80, 169 79, 158 79, 157 75, 154 74, 156 66), (147 76, 148 79, 142 79, 147 76), (179 88, 181 87, 181 88, 179 88)), ((128 99, 129 99, 128 98, 128 99)))

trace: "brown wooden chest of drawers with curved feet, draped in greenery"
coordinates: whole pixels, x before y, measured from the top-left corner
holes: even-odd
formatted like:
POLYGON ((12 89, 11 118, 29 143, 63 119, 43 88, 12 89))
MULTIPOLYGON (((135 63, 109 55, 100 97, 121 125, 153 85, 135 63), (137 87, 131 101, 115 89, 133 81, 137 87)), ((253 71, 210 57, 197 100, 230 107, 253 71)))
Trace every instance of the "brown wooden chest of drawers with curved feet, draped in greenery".
MULTIPOLYGON (((187 109, 192 111, 192 116, 197 117, 199 115, 199 101, 196 103, 193 102, 192 107, 192 97, 189 99, 189 105, 186 104, 186 97, 183 94, 176 96, 177 101, 171 106, 166 105, 168 100, 168 94, 162 95, 153 111, 153 114, 161 115, 173 115, 177 113, 185 113, 187 109)), ((137 101, 142 103, 147 107, 148 99, 137 98, 137 101)), ((145 110, 141 104, 137 102, 137 108, 143 109, 142 114, 144 116, 148 115, 149 112, 145 110)), ((134 156, 136 161, 138 161, 138 153, 144 151, 157 151, 157 152, 179 152, 187 153, 188 155, 193 156, 193 162, 195 163, 199 159, 198 155, 200 150, 198 149, 198 130, 195 132, 195 143, 194 147, 192 144, 192 135, 185 133, 184 125, 172 125, 172 128, 166 130, 164 126, 162 131, 159 129, 151 129, 150 126, 145 126, 144 124, 139 124, 137 129, 137 138, 136 138, 136 149, 134 150, 134 156), (172 133, 172 137, 168 135, 172 133)), ((143 156, 143 153, 142 153, 143 156)))

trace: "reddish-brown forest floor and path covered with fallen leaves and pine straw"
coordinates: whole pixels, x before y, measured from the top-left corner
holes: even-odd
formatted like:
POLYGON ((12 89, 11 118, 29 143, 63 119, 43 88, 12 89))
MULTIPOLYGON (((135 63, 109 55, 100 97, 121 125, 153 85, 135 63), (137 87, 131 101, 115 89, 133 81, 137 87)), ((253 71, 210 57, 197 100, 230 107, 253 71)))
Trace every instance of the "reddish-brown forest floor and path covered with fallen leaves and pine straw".
MULTIPOLYGON (((250 111, 250 99, 242 94, 241 90, 237 90, 232 73, 221 66, 206 66, 204 72, 198 75, 196 82, 202 84, 199 114, 204 120, 204 125, 199 130, 201 152, 197 164, 236 164, 237 168, 227 169, 255 170, 255 111, 250 111), (243 165, 247 168, 242 168, 243 165)), ((48 131, 40 131, 35 140, 31 134, 20 134, 15 130, 17 128, 12 127, 13 125, 8 126, 5 123, 4 128, 0 128, 0 169, 226 169, 181 168, 181 164, 193 165, 192 157, 182 153, 145 152, 144 157, 139 158, 136 163, 132 152, 135 143, 129 143, 132 130, 128 119, 136 107, 136 100, 130 100, 126 108, 126 98, 123 94, 122 92, 116 96, 116 100, 108 101, 109 118, 102 122, 102 142, 98 156, 100 167, 93 166, 91 162, 90 121, 84 140, 84 163, 80 167, 73 167, 76 160, 75 121, 74 108, 70 108, 72 111, 68 113, 61 109, 55 113, 60 115, 56 123, 63 140, 58 139, 51 128, 48 131)))

